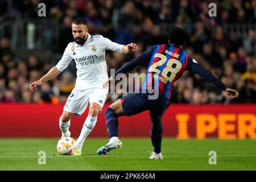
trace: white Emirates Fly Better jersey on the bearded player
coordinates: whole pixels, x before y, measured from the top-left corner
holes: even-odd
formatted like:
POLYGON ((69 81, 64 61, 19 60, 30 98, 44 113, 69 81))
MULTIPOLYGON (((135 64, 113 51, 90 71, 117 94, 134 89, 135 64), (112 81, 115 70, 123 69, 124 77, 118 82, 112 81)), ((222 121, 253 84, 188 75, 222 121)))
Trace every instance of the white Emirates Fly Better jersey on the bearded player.
POLYGON ((122 47, 123 45, 114 43, 101 35, 88 34, 83 46, 75 42, 68 44, 56 67, 62 72, 71 60, 75 60, 77 68, 75 88, 78 90, 103 88, 104 81, 108 79, 105 51, 122 53, 122 47))

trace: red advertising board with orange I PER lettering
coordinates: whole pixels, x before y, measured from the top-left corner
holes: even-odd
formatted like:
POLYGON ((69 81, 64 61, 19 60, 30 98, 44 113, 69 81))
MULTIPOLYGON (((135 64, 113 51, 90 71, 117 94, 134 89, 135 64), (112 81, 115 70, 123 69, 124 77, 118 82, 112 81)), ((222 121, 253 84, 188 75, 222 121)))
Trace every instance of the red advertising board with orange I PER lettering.
MULTIPOLYGON (((59 118, 64 105, 0 104, 0 137, 60 137, 59 118)), ((104 111, 89 137, 108 137, 104 111)), ((78 137, 88 115, 71 119, 72 137, 78 137)), ((180 139, 217 137, 256 138, 256 105, 172 104, 162 118, 163 137, 180 139)), ((119 118, 119 137, 149 137, 148 111, 119 118)))

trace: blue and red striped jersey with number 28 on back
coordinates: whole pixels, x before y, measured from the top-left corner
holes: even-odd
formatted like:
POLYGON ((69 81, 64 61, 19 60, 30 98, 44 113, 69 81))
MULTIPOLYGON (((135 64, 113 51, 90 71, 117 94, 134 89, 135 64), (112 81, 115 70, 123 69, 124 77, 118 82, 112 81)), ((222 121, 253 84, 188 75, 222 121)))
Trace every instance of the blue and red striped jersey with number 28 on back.
POLYGON ((179 47, 166 44, 156 46, 142 89, 157 89, 159 94, 170 99, 174 82, 185 71, 187 61, 188 53, 179 47))

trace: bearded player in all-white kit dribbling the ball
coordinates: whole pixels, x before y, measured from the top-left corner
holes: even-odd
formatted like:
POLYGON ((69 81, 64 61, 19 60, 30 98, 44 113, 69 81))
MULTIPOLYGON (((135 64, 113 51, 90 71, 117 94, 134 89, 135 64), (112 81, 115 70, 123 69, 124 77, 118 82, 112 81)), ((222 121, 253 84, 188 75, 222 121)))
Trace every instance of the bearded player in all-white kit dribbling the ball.
POLYGON ((82 144, 85 138, 97 122, 97 114, 105 104, 108 88, 103 84, 108 80, 106 69, 105 51, 110 50, 119 53, 131 53, 137 49, 137 45, 130 43, 127 46, 114 43, 101 35, 88 34, 87 23, 83 18, 77 18, 72 22, 72 33, 75 42, 68 44, 59 63, 49 70, 38 81, 32 82, 31 90, 37 90, 43 82, 52 80, 59 75, 71 60, 75 60, 77 79, 64 106, 59 125, 62 137, 70 137, 70 119, 73 115, 84 113, 88 104, 89 114, 82 127, 81 134, 76 140, 77 150, 73 155, 81 155, 82 144))

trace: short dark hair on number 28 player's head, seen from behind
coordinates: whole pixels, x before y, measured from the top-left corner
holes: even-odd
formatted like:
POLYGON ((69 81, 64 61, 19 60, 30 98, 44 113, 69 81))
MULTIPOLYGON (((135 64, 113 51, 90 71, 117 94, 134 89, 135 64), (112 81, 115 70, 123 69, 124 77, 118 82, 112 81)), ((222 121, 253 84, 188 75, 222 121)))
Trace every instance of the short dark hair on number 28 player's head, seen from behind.
POLYGON ((168 31, 168 39, 170 40, 171 44, 183 46, 186 42, 187 34, 179 27, 171 28, 168 31))

